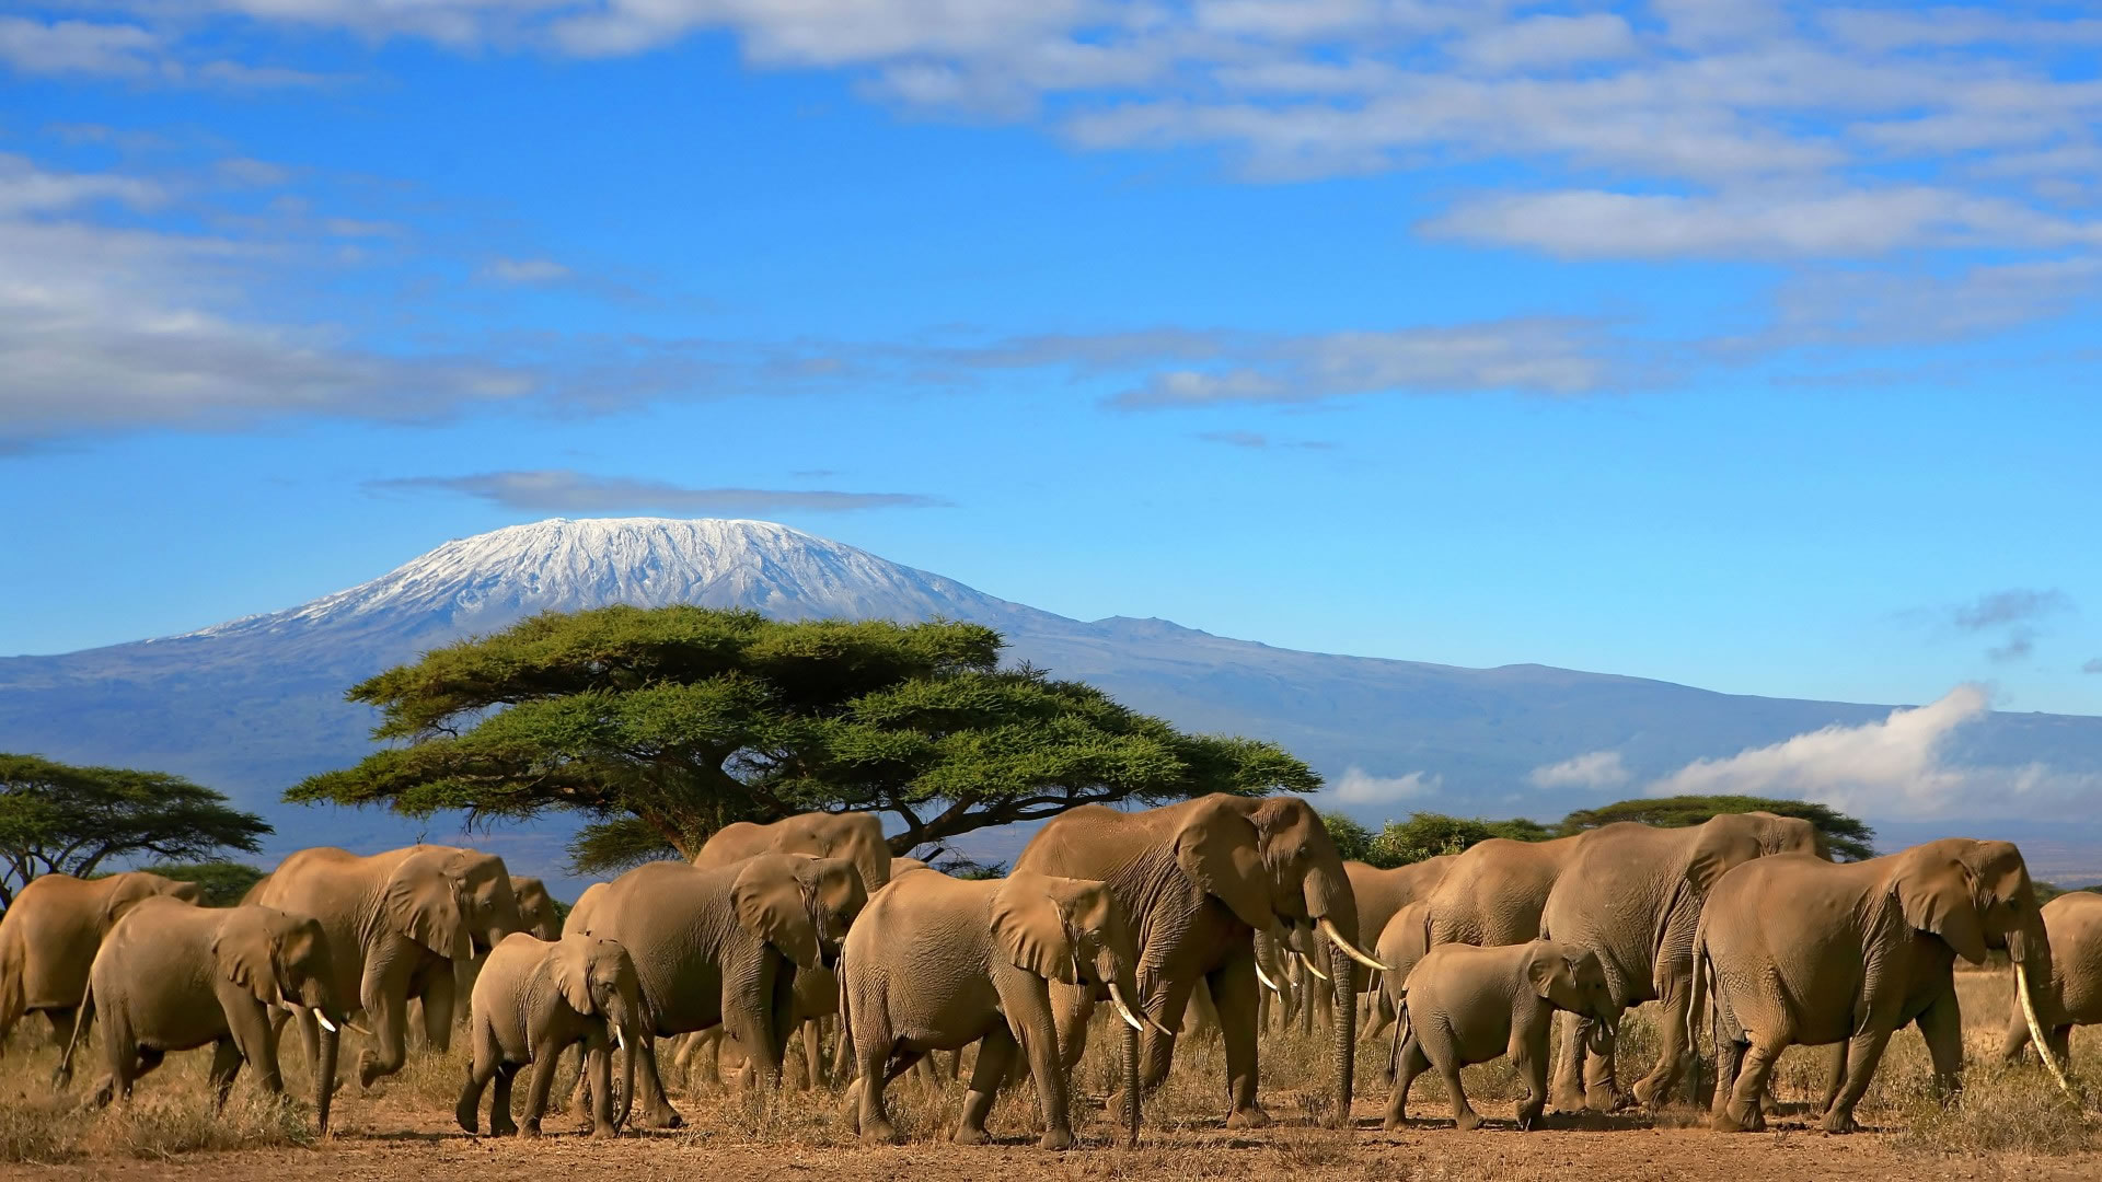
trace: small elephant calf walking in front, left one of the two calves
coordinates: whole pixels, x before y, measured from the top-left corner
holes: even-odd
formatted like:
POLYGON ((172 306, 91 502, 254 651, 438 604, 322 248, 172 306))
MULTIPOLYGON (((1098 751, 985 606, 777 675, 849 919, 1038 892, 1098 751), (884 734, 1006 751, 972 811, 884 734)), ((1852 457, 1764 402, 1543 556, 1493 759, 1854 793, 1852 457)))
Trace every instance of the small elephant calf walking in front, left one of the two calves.
POLYGON ((614 940, 570 934, 540 940, 528 932, 504 936, 490 951, 469 1003, 469 1045, 473 1062, 467 1087, 454 1108, 460 1127, 475 1132, 481 1089, 496 1079, 490 1100, 490 1132, 521 1132, 511 1119, 511 1077, 532 1064, 526 1092, 523 1136, 540 1136, 540 1113, 555 1081, 555 1062, 574 1043, 584 1043, 584 1073, 591 1077, 591 1136, 610 1138, 626 1123, 622 1104, 614 1117, 612 1054, 607 1031, 620 1045, 622 1096, 635 1096, 635 1045, 650 1028, 643 1016, 643 986, 628 951, 614 940))

